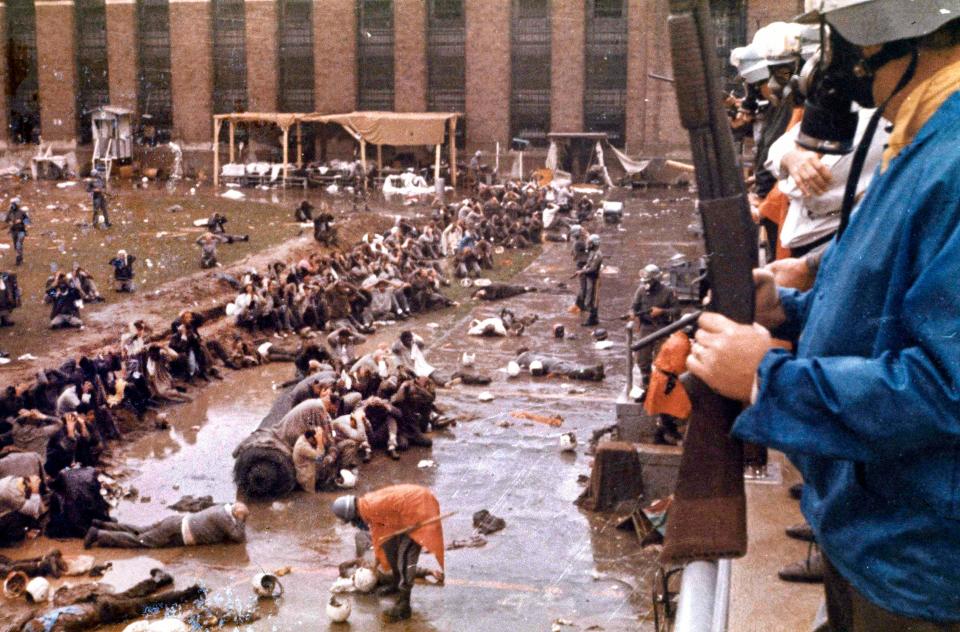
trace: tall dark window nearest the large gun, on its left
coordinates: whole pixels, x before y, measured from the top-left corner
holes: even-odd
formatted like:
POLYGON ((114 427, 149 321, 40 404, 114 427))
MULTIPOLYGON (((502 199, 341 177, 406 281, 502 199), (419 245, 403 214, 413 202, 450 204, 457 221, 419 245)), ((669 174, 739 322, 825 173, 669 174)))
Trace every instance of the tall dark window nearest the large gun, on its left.
POLYGON ((627 111, 626 0, 587 0, 583 121, 623 147, 627 111))

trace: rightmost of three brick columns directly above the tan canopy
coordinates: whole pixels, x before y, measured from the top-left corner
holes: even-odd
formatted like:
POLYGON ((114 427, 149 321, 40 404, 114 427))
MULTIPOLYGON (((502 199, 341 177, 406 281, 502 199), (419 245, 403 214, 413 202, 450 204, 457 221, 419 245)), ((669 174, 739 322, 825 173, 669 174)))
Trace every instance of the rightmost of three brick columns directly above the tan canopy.
POLYGON ((427 109, 427 3, 393 2, 394 108, 398 112, 427 109))

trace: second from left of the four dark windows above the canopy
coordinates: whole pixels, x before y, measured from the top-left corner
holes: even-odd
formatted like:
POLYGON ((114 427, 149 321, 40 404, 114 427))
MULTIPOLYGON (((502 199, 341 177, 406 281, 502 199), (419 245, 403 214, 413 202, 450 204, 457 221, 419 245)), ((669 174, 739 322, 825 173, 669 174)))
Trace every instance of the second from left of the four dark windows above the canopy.
POLYGON ((314 109, 312 7, 311 0, 280 3, 281 112, 313 112, 314 109))

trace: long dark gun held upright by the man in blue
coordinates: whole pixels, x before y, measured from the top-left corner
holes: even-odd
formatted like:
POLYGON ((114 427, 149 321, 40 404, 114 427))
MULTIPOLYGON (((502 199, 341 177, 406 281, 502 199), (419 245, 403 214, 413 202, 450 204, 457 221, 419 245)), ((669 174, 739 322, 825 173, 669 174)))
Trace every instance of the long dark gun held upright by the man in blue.
MULTIPOLYGON (((723 105, 708 0, 670 0, 670 52, 680 120, 690 134, 707 251, 710 309, 753 321, 757 230, 723 105)), ((692 376, 691 376, 692 377, 692 376)), ((693 413, 684 441, 662 561, 739 557, 747 549, 743 446, 730 436, 741 410, 700 380, 686 382, 693 413)))

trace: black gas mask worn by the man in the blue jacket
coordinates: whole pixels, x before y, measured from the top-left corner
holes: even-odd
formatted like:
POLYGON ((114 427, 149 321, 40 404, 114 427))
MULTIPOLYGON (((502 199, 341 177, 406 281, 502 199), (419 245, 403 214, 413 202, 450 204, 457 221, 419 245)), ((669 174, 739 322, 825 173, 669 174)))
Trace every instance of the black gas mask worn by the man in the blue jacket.
POLYGON ((877 70, 894 59, 912 54, 913 61, 893 94, 903 89, 913 77, 917 43, 916 40, 890 42, 875 55, 864 57, 860 47, 827 24, 821 26, 820 41, 823 42, 820 52, 807 62, 800 76, 799 86, 806 102, 797 144, 819 153, 846 154, 853 150, 857 133, 858 115, 853 104, 876 107, 873 81, 877 70))

